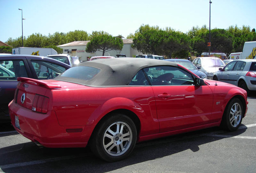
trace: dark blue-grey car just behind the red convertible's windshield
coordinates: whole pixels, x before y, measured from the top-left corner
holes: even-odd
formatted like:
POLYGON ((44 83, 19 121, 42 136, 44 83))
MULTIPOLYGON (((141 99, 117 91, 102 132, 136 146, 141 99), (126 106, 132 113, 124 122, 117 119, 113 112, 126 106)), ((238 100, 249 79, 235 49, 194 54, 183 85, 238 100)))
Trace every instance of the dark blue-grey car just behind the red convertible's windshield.
POLYGON ((200 78, 207 78, 206 74, 199 70, 200 67, 196 67, 190 60, 185 60, 185 59, 165 59, 165 60, 175 62, 177 64, 180 64, 181 66, 184 66, 185 68, 192 71, 194 74, 196 74, 200 78))

